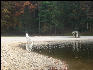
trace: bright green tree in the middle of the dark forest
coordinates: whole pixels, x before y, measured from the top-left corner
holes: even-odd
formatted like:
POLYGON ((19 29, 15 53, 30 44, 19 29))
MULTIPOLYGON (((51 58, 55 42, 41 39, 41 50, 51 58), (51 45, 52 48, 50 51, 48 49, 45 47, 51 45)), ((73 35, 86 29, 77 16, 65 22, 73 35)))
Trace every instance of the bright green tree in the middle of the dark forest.
POLYGON ((44 27, 45 27, 45 31, 46 31, 46 27, 48 27, 47 31, 49 31, 49 29, 52 26, 57 26, 58 20, 56 17, 58 12, 59 11, 57 10, 57 3, 55 1, 42 1, 40 3, 39 16, 40 16, 40 23, 42 25, 41 27, 43 27, 43 30, 44 27))

